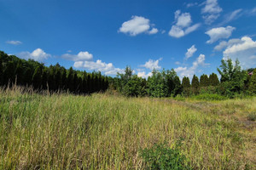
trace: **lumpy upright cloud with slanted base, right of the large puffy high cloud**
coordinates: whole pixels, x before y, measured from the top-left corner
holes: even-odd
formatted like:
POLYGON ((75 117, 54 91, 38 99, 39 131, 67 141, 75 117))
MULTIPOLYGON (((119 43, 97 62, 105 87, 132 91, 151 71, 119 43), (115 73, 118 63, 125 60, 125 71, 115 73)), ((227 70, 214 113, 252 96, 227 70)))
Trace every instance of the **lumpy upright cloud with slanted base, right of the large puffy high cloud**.
POLYGON ((169 36, 171 37, 183 37, 201 26, 200 24, 190 26, 192 24, 192 19, 189 13, 181 13, 180 10, 177 10, 174 15, 175 25, 173 25, 169 31, 169 36))

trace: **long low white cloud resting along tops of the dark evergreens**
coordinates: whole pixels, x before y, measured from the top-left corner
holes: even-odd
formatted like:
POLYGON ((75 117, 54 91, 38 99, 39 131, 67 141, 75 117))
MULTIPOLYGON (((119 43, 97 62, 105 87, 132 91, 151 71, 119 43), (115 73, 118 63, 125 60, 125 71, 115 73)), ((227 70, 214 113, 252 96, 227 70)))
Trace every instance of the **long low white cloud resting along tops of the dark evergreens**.
POLYGON ((115 68, 112 63, 102 62, 101 59, 95 61, 75 61, 73 66, 75 68, 84 68, 90 71, 105 72, 105 75, 116 75, 117 72, 123 73, 123 69, 115 68))

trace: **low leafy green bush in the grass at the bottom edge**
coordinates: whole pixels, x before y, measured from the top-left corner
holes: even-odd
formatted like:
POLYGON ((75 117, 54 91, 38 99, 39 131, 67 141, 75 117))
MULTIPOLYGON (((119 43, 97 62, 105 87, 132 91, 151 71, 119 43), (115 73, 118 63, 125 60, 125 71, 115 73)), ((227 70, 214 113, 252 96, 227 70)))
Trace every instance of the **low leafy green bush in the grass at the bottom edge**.
POLYGON ((186 165, 188 160, 181 154, 180 144, 176 144, 173 149, 166 146, 166 144, 154 144, 152 148, 146 148, 140 152, 140 156, 143 157, 148 169, 192 169, 186 165))

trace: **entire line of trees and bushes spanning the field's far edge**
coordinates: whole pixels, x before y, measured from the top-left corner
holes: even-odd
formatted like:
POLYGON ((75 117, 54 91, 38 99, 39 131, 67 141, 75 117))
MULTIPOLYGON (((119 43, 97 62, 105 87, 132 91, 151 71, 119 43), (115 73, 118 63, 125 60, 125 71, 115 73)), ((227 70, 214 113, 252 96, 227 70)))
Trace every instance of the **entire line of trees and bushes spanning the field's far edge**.
POLYGON ((69 91, 73 94, 91 94, 104 92, 108 88, 125 96, 189 97, 197 94, 221 94, 230 98, 236 95, 256 94, 256 70, 253 68, 241 70, 238 60, 235 65, 231 59, 221 60, 217 69, 220 77, 212 73, 201 77, 183 77, 182 81, 172 70, 153 70, 148 79, 132 74, 131 67, 125 68, 125 73, 117 77, 102 76, 101 72, 68 70, 63 66, 45 66, 32 59, 19 59, 15 55, 0 51, 0 86, 12 84, 32 86, 34 89, 55 92, 69 91), (254 74, 253 74, 254 73, 254 74))

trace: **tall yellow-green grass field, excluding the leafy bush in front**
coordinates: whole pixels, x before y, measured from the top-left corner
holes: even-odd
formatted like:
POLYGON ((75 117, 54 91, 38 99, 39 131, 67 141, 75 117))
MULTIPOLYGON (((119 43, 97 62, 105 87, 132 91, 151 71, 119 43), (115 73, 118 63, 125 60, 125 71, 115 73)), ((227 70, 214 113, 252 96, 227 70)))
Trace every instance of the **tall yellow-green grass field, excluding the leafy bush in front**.
POLYGON ((0 90, 0 169, 143 169, 178 139, 193 169, 255 169, 255 104, 0 90))

